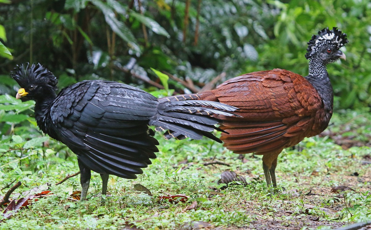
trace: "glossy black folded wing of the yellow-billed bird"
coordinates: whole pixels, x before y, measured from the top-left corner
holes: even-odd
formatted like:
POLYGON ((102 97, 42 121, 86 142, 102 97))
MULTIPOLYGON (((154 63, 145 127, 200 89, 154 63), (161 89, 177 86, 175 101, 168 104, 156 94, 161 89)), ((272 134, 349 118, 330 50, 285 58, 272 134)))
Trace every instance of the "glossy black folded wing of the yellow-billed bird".
POLYGON ((136 178, 158 152, 158 142, 148 132, 157 104, 155 97, 129 85, 82 81, 56 98, 50 111, 56 130, 48 133, 89 169, 136 178))

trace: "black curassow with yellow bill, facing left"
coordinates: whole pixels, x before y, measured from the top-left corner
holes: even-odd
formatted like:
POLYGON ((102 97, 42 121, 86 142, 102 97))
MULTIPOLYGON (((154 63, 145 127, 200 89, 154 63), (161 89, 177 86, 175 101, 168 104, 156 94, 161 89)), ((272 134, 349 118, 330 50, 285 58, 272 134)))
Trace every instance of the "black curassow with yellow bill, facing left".
POLYGON ((112 81, 82 81, 56 94, 57 78, 40 64, 19 65, 11 73, 20 85, 16 98, 35 100, 40 129, 76 153, 85 199, 91 170, 101 174, 106 194, 109 174, 134 179, 156 158, 155 130, 170 129, 192 139, 209 137, 220 120, 237 108, 214 101, 159 102, 151 94, 112 81))

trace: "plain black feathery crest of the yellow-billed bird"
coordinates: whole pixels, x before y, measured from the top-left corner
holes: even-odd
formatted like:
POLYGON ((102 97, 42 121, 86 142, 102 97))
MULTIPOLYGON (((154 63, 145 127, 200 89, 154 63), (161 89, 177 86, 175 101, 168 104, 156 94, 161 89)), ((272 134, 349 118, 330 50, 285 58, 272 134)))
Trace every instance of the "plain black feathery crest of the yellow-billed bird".
POLYGON ((16 68, 10 73, 10 76, 22 88, 26 88, 32 84, 47 84, 56 89, 58 80, 48 69, 43 67, 40 63, 30 64, 27 62, 27 65, 17 65, 16 68))

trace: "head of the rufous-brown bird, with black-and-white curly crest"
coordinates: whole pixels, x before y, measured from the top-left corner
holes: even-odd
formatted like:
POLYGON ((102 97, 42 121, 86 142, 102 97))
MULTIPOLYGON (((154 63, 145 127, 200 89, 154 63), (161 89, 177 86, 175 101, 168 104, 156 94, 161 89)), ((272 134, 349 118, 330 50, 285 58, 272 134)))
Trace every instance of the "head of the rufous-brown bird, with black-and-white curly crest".
POLYGON ((347 34, 342 33, 336 27, 329 30, 328 27, 313 35, 308 42, 306 59, 320 59, 326 65, 337 61, 339 58, 345 60, 345 54, 339 49, 348 43, 347 34))

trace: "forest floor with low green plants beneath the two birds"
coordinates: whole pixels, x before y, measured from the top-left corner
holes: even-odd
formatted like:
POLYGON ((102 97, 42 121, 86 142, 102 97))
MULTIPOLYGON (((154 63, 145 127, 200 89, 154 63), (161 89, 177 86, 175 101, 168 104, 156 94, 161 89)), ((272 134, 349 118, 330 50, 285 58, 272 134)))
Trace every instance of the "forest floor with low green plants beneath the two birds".
POLYGON ((266 188, 261 156, 238 159, 207 139, 155 137, 160 152, 138 179, 110 176, 108 195, 101 196, 100 176, 93 173, 88 201, 83 202, 71 195, 81 189, 79 176, 55 185, 79 171, 76 156, 62 144, 49 140, 33 157, 16 163, 12 161, 21 158, 16 150, 3 153, 0 178, 6 179, 0 183, 0 195, 20 181, 10 197, 25 197, 15 194, 36 188, 33 194, 44 198, 7 211, 0 229, 323 230, 371 219, 368 111, 337 111, 320 136, 283 150, 275 193, 266 188), (247 183, 218 184, 223 172, 231 174, 226 171, 247 183))

